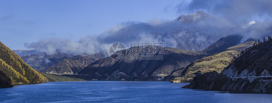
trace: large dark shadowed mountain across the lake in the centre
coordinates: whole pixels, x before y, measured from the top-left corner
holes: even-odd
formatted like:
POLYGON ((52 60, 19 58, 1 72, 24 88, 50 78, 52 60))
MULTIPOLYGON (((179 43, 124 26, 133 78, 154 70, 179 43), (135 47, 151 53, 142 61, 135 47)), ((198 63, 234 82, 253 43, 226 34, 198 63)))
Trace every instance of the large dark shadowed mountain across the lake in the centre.
MULTIPOLYGON (((162 80, 171 71, 185 67, 191 62, 204 57, 204 54, 176 48, 165 48, 163 53, 139 53, 144 56, 160 56, 162 60, 131 59, 130 49, 122 60, 111 57, 99 59, 78 73, 78 77, 87 80, 162 80)), ((119 52, 116 52, 118 54, 119 52)))

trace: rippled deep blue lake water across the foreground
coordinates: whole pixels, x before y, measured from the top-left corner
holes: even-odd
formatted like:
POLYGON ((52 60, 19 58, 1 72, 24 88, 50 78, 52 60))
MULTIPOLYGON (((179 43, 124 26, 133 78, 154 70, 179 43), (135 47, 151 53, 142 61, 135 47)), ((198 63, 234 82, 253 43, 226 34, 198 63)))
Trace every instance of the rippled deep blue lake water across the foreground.
POLYGON ((49 82, 0 89, 1 103, 272 103, 272 94, 181 89, 158 81, 49 82))

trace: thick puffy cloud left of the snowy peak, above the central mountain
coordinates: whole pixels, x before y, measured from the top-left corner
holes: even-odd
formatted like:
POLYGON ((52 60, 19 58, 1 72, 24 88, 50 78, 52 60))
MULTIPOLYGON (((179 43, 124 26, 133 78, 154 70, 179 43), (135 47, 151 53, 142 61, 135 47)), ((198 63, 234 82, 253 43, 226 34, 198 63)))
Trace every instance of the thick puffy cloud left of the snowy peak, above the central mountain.
POLYGON ((105 43, 121 42, 124 44, 157 41, 158 36, 156 34, 163 34, 167 31, 166 29, 165 22, 160 20, 152 20, 150 23, 126 22, 103 32, 98 36, 98 41, 105 43))

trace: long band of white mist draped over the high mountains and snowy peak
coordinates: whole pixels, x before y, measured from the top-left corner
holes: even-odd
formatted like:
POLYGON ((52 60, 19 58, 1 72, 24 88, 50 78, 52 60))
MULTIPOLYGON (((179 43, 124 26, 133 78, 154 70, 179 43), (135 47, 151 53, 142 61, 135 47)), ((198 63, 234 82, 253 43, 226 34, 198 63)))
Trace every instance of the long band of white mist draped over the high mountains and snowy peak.
POLYGON ((49 38, 25 43, 27 48, 56 54, 57 50, 68 54, 107 54, 112 43, 121 42, 129 48, 130 42, 163 42, 165 47, 201 51, 221 37, 239 34, 246 39, 262 39, 267 34, 270 21, 233 24, 226 19, 217 18, 197 11, 181 15, 173 21, 154 19, 149 22, 124 22, 108 28, 97 36, 85 36, 76 42, 68 39, 49 38), (258 35, 254 35, 258 34, 258 35))

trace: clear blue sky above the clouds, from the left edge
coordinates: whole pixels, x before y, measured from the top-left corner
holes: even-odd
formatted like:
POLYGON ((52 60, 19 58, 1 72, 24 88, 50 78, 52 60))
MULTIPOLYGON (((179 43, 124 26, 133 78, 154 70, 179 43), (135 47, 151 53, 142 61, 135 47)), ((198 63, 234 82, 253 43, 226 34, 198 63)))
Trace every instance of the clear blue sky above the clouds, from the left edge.
POLYGON ((12 50, 45 38, 77 41, 122 22, 174 20, 181 2, 188 1, 1 0, 0 41, 12 50))

